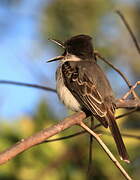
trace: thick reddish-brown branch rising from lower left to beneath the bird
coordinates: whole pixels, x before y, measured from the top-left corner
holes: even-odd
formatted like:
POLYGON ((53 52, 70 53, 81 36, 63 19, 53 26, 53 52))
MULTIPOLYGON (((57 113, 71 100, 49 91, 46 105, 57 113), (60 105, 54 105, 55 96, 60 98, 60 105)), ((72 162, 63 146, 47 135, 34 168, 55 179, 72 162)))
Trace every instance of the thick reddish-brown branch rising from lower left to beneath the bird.
POLYGON ((65 118, 63 121, 60 121, 58 124, 53 125, 50 128, 46 128, 31 137, 22 139, 13 147, 0 153, 0 164, 6 163, 8 160, 20 154, 21 152, 45 141, 47 138, 52 137, 67 128, 70 128, 73 125, 78 124, 79 121, 85 118, 85 113, 79 112, 70 117, 65 118))

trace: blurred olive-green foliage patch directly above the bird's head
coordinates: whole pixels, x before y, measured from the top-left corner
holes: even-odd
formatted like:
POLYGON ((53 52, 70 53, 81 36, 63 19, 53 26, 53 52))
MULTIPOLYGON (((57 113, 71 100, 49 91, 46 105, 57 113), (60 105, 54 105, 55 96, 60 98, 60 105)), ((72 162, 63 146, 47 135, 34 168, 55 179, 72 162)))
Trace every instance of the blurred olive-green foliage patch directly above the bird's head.
MULTIPOLYGON (((74 34, 94 36, 101 25, 101 18, 110 8, 110 1, 104 0, 53 0, 44 8, 43 32, 52 37, 67 39, 74 34), (46 15, 46 16, 45 16, 46 15), (97 18, 98 17, 98 18, 97 18)), ((45 36, 44 36, 45 37, 45 36)))

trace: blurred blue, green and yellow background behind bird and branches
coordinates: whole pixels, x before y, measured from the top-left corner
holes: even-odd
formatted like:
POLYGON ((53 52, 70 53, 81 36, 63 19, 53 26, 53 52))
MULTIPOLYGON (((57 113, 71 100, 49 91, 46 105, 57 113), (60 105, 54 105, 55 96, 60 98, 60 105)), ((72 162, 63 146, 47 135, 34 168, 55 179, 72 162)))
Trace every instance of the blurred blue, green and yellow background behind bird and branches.
MULTIPOLYGON (((116 10, 125 15, 139 41, 139 0, 0 0, 0 80, 55 88, 58 64, 46 61, 63 49, 48 38, 65 41, 73 35, 88 34, 93 37, 95 49, 134 84, 140 80, 140 56, 116 10)), ((100 64, 116 97, 121 97, 128 90, 125 82, 106 64, 100 64)), ((0 92, 0 151, 71 113, 53 92, 3 84, 0 92)), ((118 124, 124 133, 140 134, 139 113, 121 118, 118 124)), ((78 130, 74 127, 57 137, 78 130)), ((118 157, 112 138, 103 135, 103 139, 118 157)), ((0 166, 0 180, 85 180, 88 141, 88 135, 81 135, 34 147, 0 166)), ((125 137, 124 141, 132 163, 122 164, 134 179, 139 179, 139 140, 125 137)), ((123 179, 96 142, 93 153, 89 179, 123 179)))

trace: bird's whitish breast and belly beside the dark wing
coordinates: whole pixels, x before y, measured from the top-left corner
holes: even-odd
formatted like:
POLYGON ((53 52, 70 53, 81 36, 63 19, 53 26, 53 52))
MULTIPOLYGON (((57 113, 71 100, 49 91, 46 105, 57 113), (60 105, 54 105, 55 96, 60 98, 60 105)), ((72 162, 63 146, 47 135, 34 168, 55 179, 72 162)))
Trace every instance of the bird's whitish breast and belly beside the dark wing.
POLYGON ((64 84, 61 66, 58 67, 56 72, 56 90, 59 99, 64 105, 66 105, 72 111, 81 111, 79 102, 64 84))

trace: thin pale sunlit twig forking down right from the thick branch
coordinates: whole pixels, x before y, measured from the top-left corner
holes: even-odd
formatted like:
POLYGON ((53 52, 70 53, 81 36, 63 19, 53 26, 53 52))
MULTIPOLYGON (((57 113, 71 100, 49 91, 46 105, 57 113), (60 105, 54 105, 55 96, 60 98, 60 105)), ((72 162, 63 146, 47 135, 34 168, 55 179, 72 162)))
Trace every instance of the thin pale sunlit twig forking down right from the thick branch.
POLYGON ((111 153, 111 151, 108 149, 108 147, 104 144, 104 142, 101 140, 101 138, 94 133, 91 129, 89 129, 88 126, 86 126, 83 122, 80 122, 79 124, 83 129, 85 129, 88 133, 92 134, 92 136, 97 140, 97 142, 100 144, 100 146, 103 148, 105 153, 109 156, 109 158, 112 160, 112 162, 115 164, 115 166, 120 170, 122 175, 127 180, 132 180, 132 178, 128 175, 128 173, 124 170, 124 168, 121 166, 121 164, 117 161, 117 159, 114 157, 114 155, 111 153))

